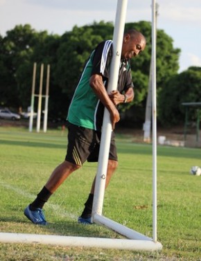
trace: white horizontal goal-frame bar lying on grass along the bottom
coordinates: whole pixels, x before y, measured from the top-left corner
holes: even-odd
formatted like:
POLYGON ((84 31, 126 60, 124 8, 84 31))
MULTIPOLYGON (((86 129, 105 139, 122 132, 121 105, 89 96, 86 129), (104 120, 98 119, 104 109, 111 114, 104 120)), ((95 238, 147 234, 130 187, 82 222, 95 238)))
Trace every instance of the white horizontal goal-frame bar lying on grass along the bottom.
POLYGON ((162 245, 150 240, 121 240, 99 237, 72 237, 64 235, 37 235, 24 233, 0 233, 1 243, 49 244, 55 246, 122 249, 134 251, 159 251, 162 245))

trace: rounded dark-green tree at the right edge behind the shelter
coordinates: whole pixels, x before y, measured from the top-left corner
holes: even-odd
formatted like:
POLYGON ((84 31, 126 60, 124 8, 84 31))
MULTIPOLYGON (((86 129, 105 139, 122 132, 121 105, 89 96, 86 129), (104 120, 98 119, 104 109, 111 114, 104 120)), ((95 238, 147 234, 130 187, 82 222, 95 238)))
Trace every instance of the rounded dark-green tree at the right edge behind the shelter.
MULTIPOLYGON (((200 102, 200 87, 201 67, 189 67, 168 80, 159 93, 160 122, 166 126, 183 123, 182 102, 200 102)), ((195 110, 189 111, 189 118, 195 118, 195 110)))

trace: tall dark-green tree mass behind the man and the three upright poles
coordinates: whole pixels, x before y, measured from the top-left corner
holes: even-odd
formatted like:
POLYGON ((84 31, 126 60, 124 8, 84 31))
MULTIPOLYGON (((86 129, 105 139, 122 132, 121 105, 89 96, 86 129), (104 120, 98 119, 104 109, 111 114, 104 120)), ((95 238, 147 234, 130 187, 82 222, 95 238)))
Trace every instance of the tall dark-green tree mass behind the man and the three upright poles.
MULTIPOLYGON (((136 28, 145 35, 147 46, 143 53, 132 59, 135 99, 123 109, 134 110, 133 119, 143 122, 150 71, 151 24, 148 21, 125 24, 125 30, 130 28, 136 28)), ((6 33, 6 37, 0 35, 0 106, 26 109, 30 105, 33 63, 37 62, 36 92, 40 82, 40 64, 50 64, 49 115, 65 118, 87 57, 99 42, 112 39, 113 30, 111 22, 100 21, 82 27, 74 26, 60 36, 49 35, 46 31, 37 32, 26 24, 15 26, 6 33)), ((179 55, 180 49, 173 47, 173 39, 164 30, 157 30, 157 91, 160 100, 168 82, 173 84, 176 79, 179 55)), ((163 110, 160 111, 160 115, 164 115, 163 110)))

